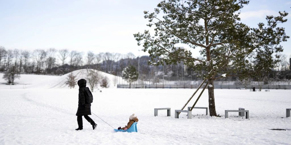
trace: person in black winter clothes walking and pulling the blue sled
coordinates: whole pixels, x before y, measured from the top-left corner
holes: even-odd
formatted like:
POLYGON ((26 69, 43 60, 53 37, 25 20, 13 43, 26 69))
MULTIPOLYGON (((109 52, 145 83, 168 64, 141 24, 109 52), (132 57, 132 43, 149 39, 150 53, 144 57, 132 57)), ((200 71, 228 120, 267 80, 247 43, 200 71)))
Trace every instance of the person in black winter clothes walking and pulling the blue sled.
POLYGON ((78 81, 78 86, 79 86, 79 104, 78 104, 78 110, 77 110, 77 121, 78 121, 78 128, 75 129, 76 131, 82 130, 83 129, 83 120, 82 116, 90 122, 90 124, 93 127, 93 130, 96 129, 97 124, 88 116, 91 115, 91 103, 86 104, 85 102, 85 97, 87 95, 86 93, 86 80, 85 79, 80 79, 78 81))

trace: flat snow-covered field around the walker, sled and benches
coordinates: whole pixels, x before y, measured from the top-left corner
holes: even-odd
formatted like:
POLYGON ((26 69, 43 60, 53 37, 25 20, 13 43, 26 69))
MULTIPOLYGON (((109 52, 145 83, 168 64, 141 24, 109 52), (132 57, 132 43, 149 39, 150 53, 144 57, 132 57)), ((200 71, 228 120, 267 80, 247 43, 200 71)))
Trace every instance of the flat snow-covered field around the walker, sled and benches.
MULTIPOLYGON (((22 79, 39 76, 22 75, 22 79)), ((102 93, 93 93, 91 111, 114 128, 126 125, 135 113, 138 133, 114 132, 93 114, 90 117, 98 124, 97 130, 83 117, 84 129, 75 131, 78 89, 56 86, 54 80, 60 80, 59 76, 41 77, 30 79, 32 84, 26 87, 0 85, 0 144, 291 144, 291 117, 285 117, 286 108, 291 108, 291 90, 215 89, 216 111, 221 117, 194 109, 192 119, 186 113, 175 119, 174 110, 182 108, 194 89, 101 89, 102 93), (166 107, 171 108, 170 117, 166 110, 154 116, 154 108, 166 107), (239 107, 250 111, 249 119, 238 113, 224 118, 224 110, 239 107)), ((208 107, 207 90, 196 106, 208 107)))

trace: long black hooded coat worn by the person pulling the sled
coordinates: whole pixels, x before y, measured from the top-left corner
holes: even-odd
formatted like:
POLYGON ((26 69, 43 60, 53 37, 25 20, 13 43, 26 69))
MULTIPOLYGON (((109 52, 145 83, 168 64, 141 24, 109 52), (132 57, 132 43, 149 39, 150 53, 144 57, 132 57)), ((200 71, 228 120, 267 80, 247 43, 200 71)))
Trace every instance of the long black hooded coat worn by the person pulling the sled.
POLYGON ((86 80, 80 79, 78 81, 79 86, 79 104, 78 104, 78 110, 76 113, 76 116, 84 116, 84 115, 91 115, 91 104, 86 104, 85 102, 85 89, 86 89, 86 80), (86 108, 83 108, 83 104, 86 106, 86 108))

